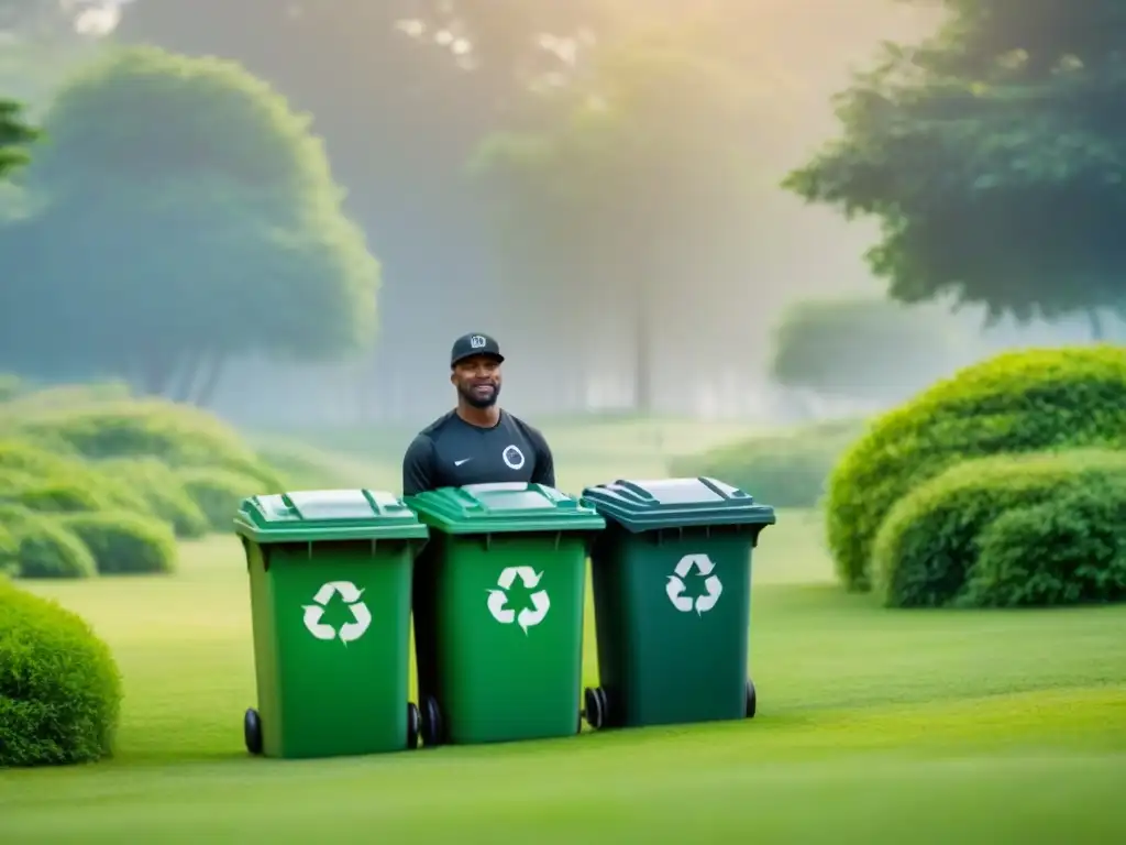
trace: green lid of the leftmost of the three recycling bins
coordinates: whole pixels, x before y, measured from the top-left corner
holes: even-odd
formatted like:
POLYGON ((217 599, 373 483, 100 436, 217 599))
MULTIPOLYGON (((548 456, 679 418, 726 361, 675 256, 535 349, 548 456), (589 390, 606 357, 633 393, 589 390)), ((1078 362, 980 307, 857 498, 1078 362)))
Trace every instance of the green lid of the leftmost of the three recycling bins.
POLYGON ((243 499, 235 532, 259 543, 426 539, 429 530, 384 490, 300 490, 243 499))

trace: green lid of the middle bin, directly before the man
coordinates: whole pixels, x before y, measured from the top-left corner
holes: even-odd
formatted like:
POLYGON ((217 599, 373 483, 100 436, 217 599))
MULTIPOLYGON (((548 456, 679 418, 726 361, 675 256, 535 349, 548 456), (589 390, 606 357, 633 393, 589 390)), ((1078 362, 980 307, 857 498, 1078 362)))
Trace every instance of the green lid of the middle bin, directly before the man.
POLYGON ((546 484, 506 481, 427 490, 405 499, 419 518, 445 534, 513 531, 601 531, 592 508, 546 484))

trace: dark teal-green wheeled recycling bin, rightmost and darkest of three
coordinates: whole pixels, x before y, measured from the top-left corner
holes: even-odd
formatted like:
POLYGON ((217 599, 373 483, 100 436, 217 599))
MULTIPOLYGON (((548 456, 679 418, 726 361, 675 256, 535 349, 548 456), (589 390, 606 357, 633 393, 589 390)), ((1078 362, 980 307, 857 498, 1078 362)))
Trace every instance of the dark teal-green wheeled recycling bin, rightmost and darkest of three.
POLYGON ((751 550, 774 509, 711 478, 583 490, 606 517, 591 553, 601 685, 593 728, 754 715, 748 676, 751 550))

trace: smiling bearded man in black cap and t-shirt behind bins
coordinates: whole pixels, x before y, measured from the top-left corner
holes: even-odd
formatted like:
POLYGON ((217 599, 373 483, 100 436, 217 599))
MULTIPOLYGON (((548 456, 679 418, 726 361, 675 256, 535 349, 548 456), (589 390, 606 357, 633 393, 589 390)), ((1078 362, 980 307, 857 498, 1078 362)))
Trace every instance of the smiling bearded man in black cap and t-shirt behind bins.
POLYGON ((449 381, 457 407, 419 432, 403 455, 403 495, 439 487, 527 481, 555 487, 547 441, 497 406, 504 356, 488 335, 454 341, 449 381))

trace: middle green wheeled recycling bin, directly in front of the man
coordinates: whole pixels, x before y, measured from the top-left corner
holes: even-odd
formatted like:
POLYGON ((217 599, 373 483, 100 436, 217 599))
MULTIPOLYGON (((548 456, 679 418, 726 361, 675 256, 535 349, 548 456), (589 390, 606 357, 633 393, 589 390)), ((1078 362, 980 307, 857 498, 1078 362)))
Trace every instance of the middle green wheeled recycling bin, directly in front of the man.
POLYGON ((423 742, 578 733, 587 555, 606 521, 524 482, 405 501, 430 527, 413 599, 423 742))

